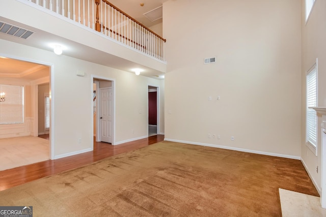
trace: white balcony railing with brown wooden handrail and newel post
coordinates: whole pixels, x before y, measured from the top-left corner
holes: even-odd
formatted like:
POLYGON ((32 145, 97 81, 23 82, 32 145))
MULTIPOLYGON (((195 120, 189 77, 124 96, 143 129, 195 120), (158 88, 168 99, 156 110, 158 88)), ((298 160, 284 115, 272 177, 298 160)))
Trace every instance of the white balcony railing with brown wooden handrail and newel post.
POLYGON ((165 61, 165 39, 106 0, 26 0, 165 61))

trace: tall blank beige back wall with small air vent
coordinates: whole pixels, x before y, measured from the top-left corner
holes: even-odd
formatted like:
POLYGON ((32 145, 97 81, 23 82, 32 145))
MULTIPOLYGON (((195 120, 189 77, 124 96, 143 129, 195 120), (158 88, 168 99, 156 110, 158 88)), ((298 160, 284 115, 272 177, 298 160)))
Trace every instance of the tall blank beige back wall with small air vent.
POLYGON ((163 7, 165 138, 300 159, 301 2, 163 7))

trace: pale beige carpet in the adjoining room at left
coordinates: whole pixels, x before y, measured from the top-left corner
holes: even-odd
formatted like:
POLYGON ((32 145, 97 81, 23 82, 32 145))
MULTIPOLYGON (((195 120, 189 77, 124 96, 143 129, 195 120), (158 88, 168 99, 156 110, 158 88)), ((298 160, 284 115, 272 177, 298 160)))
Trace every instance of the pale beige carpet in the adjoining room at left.
POLYGON ((33 136, 0 139, 0 171, 49 160, 49 140, 33 136))

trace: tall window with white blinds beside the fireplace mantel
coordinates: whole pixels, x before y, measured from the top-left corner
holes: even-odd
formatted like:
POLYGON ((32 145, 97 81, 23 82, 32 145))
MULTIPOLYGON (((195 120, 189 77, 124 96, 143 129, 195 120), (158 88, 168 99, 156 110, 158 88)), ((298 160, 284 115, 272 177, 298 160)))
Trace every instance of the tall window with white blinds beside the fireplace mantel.
POLYGON ((317 106, 317 68, 316 64, 307 74, 307 143, 314 149, 317 146, 317 114, 309 107, 317 106))

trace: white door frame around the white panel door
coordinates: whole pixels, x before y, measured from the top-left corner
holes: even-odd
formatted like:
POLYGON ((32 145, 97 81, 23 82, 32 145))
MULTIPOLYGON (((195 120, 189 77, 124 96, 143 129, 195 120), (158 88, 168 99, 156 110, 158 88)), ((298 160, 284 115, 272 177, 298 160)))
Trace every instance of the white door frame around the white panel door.
MULTIPOLYGON (((97 75, 91 75, 91 117, 92 117, 92 132, 94 131, 94 107, 93 107, 93 92, 94 92, 94 88, 93 88, 93 83, 96 83, 96 95, 98 95, 100 87, 99 87, 99 81, 94 80, 94 79, 98 79, 98 80, 102 80, 102 81, 111 81, 112 82, 112 145, 116 144, 116 85, 115 85, 115 79, 113 78, 108 78, 108 77, 102 77, 102 76, 97 76, 97 75)), ((96 142, 100 142, 101 141, 101 126, 100 126, 100 119, 99 119, 99 110, 100 108, 100 101, 96 100, 96 142)), ((94 144, 93 144, 94 146, 94 144)), ((92 146, 92 148, 93 148, 92 146)))

